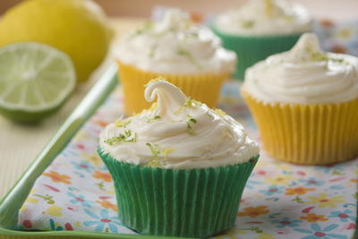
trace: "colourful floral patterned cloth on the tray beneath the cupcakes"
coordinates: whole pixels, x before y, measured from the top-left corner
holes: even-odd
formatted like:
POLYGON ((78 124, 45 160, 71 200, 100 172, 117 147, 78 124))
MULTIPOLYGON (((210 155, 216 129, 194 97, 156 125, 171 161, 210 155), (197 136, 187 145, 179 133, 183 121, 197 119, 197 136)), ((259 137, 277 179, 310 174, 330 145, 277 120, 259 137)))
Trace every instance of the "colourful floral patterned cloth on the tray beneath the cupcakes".
MULTIPOLYGON (((255 140, 258 132, 239 85, 229 81, 221 107, 255 140)), ((98 158, 98 134, 122 111, 116 89, 38 177, 19 215, 20 229, 134 234, 116 214, 111 175, 98 158)), ((332 166, 295 166, 261 152, 243 192, 236 226, 221 238, 352 238, 357 216, 358 158, 332 166)))

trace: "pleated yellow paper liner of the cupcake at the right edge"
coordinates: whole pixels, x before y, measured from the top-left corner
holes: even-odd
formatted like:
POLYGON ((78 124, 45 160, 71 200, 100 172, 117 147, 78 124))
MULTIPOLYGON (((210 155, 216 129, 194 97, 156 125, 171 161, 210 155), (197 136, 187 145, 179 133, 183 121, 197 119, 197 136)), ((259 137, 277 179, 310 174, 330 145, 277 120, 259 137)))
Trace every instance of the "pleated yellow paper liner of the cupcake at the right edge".
POLYGON ((265 104, 242 91, 274 158, 328 165, 358 155, 358 99, 338 104, 265 104))

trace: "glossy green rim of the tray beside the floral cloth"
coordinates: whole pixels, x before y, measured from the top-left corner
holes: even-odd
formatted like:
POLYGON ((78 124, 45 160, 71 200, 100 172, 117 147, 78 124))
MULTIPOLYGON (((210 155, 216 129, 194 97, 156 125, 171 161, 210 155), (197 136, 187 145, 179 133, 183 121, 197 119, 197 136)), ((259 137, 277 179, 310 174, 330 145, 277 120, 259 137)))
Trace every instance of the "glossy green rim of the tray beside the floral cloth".
MULTIPOLYGON (((108 66, 107 71, 92 87, 90 92, 82 99, 81 104, 74 109, 64 124, 55 133, 55 136, 42 149, 38 157, 29 168, 21 175, 21 178, 13 188, 0 201, 0 239, 17 238, 157 238, 150 235, 124 235, 107 234, 85 231, 18 231, 16 230, 19 209, 29 195, 32 185, 39 175, 51 164, 58 153, 67 145, 74 134, 78 132, 98 107, 105 101, 117 84, 117 67, 115 64, 108 66)), ((171 238, 171 237, 161 237, 171 238)))

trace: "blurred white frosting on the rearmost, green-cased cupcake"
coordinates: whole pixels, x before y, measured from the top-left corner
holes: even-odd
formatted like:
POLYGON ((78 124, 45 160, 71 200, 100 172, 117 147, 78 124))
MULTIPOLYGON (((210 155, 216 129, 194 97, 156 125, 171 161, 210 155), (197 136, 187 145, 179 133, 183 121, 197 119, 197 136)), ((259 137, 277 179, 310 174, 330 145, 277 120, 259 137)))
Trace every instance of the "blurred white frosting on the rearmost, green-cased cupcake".
POLYGON ((311 16, 299 4, 284 0, 250 0, 217 16, 218 30, 243 36, 303 33, 311 30, 311 16))

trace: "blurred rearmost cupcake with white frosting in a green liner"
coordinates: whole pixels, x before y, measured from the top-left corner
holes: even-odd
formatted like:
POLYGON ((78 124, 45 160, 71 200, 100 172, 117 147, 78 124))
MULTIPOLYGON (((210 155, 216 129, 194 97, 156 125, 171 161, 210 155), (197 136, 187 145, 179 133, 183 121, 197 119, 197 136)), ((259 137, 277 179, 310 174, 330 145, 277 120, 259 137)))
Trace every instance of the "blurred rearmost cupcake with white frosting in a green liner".
POLYGON ((284 0, 249 0, 219 14, 212 24, 224 47, 237 54, 234 77, 243 79, 247 67, 269 55, 294 47, 311 30, 311 16, 298 4, 284 0))

